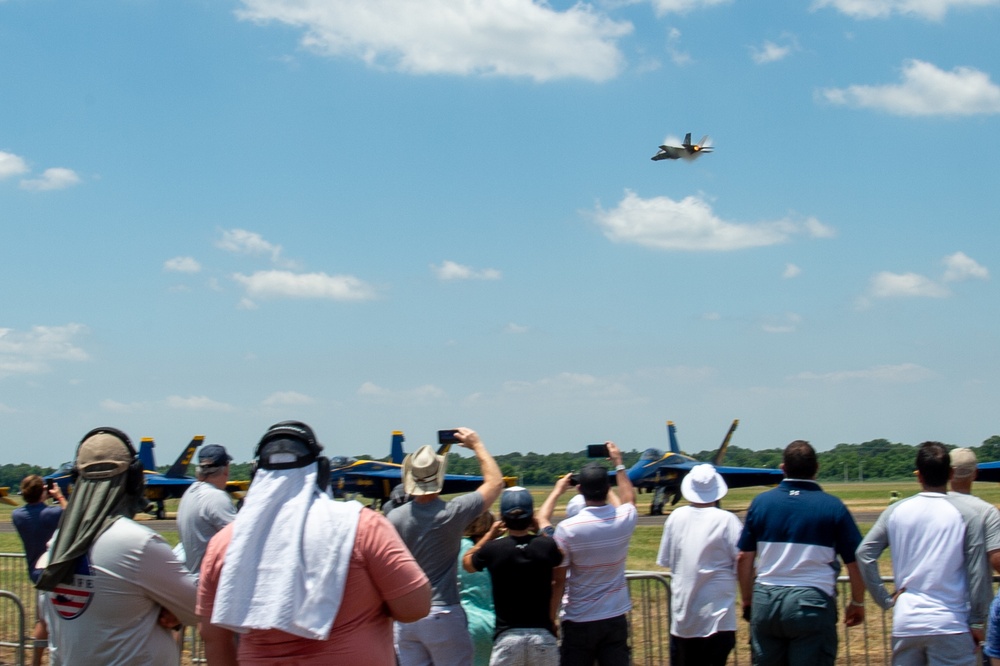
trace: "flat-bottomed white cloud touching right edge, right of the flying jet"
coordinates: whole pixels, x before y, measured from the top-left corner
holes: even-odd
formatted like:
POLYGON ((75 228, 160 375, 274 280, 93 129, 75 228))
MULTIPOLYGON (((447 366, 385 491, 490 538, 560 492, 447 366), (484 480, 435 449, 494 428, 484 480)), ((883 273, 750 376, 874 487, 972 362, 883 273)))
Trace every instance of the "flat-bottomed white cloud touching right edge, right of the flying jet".
POLYGON ((902 82, 882 86, 826 88, 819 96, 831 104, 876 109, 898 116, 971 116, 1000 113, 1000 86, 971 67, 950 72, 929 62, 907 60, 902 82))

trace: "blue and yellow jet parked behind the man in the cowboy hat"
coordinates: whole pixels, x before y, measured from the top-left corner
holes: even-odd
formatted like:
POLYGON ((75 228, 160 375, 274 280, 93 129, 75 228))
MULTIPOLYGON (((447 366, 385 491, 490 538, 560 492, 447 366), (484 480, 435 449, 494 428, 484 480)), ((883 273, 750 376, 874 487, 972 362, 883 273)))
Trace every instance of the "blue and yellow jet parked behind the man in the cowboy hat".
MULTIPOLYGON (((330 457, 330 493, 334 497, 365 497, 380 509, 389 499, 392 489, 403 482, 402 431, 392 433, 389 462, 358 460, 347 456, 330 457)), ((442 444, 438 455, 446 455, 451 444, 442 444)), ((474 474, 445 474, 442 494, 472 492, 483 484, 483 477, 474 474)), ((514 477, 504 477, 507 487, 517 485, 514 477)))

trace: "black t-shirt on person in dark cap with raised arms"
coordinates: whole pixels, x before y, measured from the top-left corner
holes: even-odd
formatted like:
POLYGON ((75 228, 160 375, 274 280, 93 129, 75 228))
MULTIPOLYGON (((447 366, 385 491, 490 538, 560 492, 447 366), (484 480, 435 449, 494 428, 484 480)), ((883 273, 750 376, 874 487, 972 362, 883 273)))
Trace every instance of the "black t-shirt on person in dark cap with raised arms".
POLYGON ((489 541, 472 554, 472 566, 493 581, 497 614, 494 638, 508 629, 548 629, 552 569, 562 562, 556 542, 546 536, 508 536, 489 541))

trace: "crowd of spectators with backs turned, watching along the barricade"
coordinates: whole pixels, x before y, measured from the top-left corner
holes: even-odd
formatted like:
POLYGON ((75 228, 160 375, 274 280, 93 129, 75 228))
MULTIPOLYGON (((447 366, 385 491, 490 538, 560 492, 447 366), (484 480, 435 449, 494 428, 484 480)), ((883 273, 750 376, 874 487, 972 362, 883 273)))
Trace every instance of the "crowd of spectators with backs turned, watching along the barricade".
MULTIPOLYGON (((28 477, 13 514, 40 591, 35 663, 48 637, 54 665, 173 666, 179 630, 194 625, 211 666, 630 664, 637 512, 618 447, 606 443, 613 469, 566 474, 536 511, 527 489, 504 488, 478 433, 459 428, 455 439, 481 485, 442 499, 447 457, 424 446, 405 458, 385 515, 332 498, 329 461, 305 423, 264 433, 239 512, 225 492, 232 458, 206 446, 171 549, 132 520, 144 477, 128 436, 90 431, 69 501, 28 477)), ((893 664, 972 666, 982 653, 1000 665, 1000 511, 971 494, 976 462, 969 449, 925 442, 920 492, 891 503, 864 538, 816 482, 808 442, 784 449, 784 480, 743 522, 720 508, 723 476, 695 466, 656 558, 671 572, 670 663, 725 664, 742 618, 757 666, 832 666, 836 625, 865 621, 867 592, 893 609, 893 664), (878 564, 886 549, 892 590, 878 564)))

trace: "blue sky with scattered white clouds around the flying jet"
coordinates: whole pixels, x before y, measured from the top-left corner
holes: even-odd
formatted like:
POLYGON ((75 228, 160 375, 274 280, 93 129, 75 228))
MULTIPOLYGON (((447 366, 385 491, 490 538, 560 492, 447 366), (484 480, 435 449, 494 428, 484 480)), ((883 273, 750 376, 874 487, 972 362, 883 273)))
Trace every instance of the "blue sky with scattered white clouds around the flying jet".
POLYGON ((1000 433, 1000 0, 0 0, 0 460, 1000 433), (649 158, 686 132, 696 161, 649 158))

